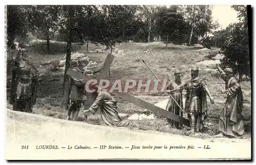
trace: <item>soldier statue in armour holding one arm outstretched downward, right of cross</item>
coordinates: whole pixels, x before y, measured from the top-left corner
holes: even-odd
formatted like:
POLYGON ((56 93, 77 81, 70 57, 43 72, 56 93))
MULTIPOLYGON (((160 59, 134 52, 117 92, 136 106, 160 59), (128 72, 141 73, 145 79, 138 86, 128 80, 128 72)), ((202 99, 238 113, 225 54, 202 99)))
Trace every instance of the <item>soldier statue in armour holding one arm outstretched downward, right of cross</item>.
POLYGON ((204 120, 207 118, 206 94, 212 104, 215 103, 211 96, 205 79, 198 77, 199 69, 191 69, 191 79, 185 82, 183 88, 186 93, 184 111, 187 112, 190 121, 191 132, 201 132, 204 127, 204 120))

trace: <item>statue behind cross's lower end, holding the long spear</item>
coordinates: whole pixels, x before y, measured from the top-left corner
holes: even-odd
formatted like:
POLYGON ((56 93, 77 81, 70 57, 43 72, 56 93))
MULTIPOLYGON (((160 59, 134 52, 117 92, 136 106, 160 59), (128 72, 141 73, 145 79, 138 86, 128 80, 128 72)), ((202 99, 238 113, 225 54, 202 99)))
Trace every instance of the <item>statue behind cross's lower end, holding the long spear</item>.
MULTIPOLYGON (((181 72, 180 71, 176 71, 174 73, 175 76, 175 81, 173 82, 169 82, 168 86, 166 88, 167 92, 172 95, 173 98, 169 98, 169 101, 167 103, 166 106, 166 111, 172 112, 176 115, 179 115, 181 117, 183 117, 183 112, 182 109, 183 108, 183 100, 182 100, 182 86, 184 85, 184 83, 181 81, 181 72), (181 88, 178 88, 181 87, 181 88), (178 89, 177 89, 178 88, 178 89), (177 90, 174 90, 177 89, 177 90), (172 92, 170 92, 170 90, 174 90, 172 92), (177 103, 173 100, 175 99, 175 101, 180 105, 177 105, 177 103), (181 108, 180 108, 181 107, 181 108)), ((167 119, 168 124, 170 127, 175 127, 177 129, 181 129, 182 128, 182 124, 171 120, 171 119, 167 119)))

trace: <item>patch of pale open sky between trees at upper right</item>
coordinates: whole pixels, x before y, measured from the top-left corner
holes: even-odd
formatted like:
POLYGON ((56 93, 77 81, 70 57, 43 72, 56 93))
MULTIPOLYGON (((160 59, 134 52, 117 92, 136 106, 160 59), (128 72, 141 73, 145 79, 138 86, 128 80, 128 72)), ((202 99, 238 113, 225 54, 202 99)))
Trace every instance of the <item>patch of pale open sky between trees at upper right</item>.
POLYGON ((218 21, 222 28, 225 29, 229 23, 238 21, 237 14, 230 5, 215 5, 212 10, 212 19, 218 21))

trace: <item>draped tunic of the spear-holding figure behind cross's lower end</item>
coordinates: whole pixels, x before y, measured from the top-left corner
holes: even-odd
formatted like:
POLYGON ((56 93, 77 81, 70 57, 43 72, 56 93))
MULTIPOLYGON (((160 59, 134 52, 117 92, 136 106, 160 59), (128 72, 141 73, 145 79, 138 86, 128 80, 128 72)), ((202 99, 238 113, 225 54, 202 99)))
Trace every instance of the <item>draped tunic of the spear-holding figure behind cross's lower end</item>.
MULTIPOLYGON (((174 81, 174 82, 170 82, 166 89, 167 90, 173 90, 173 89, 176 89, 176 88, 178 88, 180 86, 183 86, 183 85, 184 85, 183 82, 181 82, 180 85, 177 85, 176 82, 174 81)), ((172 97, 180 105, 181 108, 183 108, 182 90, 183 89, 180 88, 180 89, 170 93, 170 95, 172 95, 172 97)), ((174 101, 173 98, 169 98, 169 101, 168 101, 167 106, 166 106, 166 111, 172 112, 176 115, 179 115, 179 116, 183 117, 182 110, 180 109, 180 107, 177 105, 177 103, 174 101)), ((175 126, 176 128, 181 128, 182 127, 182 124, 180 124, 180 123, 178 123, 174 120, 167 119, 167 121, 170 124, 170 126, 175 126)))

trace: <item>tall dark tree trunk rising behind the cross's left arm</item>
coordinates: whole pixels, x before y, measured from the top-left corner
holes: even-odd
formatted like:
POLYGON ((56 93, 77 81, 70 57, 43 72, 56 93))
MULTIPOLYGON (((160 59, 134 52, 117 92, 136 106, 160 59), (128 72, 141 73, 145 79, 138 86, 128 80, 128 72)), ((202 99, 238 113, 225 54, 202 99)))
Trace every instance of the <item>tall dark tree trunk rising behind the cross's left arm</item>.
POLYGON ((68 34, 68 42, 67 42, 67 56, 66 56, 66 67, 65 67, 65 75, 64 75, 64 81, 63 81, 63 94, 64 100, 68 98, 69 88, 68 88, 68 81, 69 76, 66 74, 69 67, 70 67, 70 59, 71 59, 71 46, 72 46, 72 27, 74 23, 74 10, 72 6, 68 6, 69 11, 69 34, 68 34))

